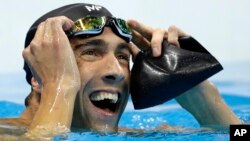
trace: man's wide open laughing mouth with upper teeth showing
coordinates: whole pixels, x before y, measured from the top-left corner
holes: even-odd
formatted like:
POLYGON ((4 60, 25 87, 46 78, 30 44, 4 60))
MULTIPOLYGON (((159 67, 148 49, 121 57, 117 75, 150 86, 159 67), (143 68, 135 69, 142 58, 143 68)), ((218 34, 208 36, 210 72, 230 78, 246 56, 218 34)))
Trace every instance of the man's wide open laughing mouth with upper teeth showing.
POLYGON ((93 93, 90 95, 90 101, 94 106, 105 112, 115 113, 119 105, 119 94, 108 92, 93 93))

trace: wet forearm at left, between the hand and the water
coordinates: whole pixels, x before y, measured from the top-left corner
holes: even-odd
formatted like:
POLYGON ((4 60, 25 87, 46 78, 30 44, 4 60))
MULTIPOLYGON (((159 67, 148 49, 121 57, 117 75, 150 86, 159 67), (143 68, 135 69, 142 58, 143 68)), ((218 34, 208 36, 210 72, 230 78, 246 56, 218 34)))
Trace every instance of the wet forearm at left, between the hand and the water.
POLYGON ((41 89, 40 105, 30 129, 57 127, 58 123, 70 128, 78 90, 77 87, 65 83, 45 83, 41 89))

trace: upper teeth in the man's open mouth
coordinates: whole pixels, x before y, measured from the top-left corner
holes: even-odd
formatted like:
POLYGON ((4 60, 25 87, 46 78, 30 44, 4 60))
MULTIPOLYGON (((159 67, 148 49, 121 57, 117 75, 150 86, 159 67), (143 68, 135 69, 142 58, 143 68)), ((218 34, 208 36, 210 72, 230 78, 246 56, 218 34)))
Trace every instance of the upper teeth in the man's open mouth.
POLYGON ((90 99, 93 101, 101 101, 104 99, 109 99, 111 103, 116 103, 118 101, 118 94, 107 93, 107 92, 95 93, 90 96, 90 99))

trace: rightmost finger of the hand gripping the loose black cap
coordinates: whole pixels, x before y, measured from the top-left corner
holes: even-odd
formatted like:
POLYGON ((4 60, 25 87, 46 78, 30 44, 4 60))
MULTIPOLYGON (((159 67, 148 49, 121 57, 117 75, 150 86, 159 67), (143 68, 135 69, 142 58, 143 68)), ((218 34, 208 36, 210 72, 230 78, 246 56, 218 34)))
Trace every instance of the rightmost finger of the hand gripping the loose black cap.
POLYGON ((179 37, 189 36, 187 33, 177 28, 176 26, 170 26, 168 28, 168 43, 180 47, 179 37))

